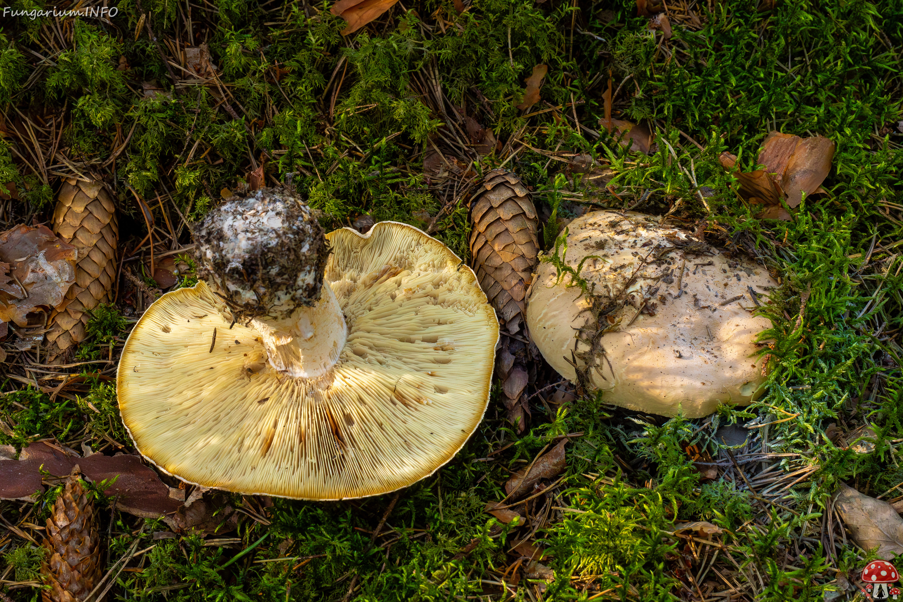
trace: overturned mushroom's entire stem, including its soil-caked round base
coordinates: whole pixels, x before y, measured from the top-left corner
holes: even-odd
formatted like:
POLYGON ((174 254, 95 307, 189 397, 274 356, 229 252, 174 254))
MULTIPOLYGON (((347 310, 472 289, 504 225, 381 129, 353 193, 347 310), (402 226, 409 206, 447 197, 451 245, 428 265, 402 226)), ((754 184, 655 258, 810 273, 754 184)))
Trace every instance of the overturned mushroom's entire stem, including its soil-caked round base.
POLYGON ((323 281, 323 228, 302 199, 256 190, 211 209, 194 235, 198 277, 227 301, 230 320, 260 333, 271 366, 316 378, 335 365, 348 329, 323 281))

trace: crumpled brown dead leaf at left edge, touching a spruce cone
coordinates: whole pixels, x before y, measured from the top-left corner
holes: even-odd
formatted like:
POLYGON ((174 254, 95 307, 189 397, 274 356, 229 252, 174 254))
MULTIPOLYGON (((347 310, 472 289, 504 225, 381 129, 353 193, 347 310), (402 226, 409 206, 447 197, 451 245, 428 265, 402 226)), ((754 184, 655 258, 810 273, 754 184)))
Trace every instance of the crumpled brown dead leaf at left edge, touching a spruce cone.
POLYGON ((77 251, 48 227, 16 226, 0 234, 0 321, 27 326, 26 316, 59 305, 75 282, 77 251))

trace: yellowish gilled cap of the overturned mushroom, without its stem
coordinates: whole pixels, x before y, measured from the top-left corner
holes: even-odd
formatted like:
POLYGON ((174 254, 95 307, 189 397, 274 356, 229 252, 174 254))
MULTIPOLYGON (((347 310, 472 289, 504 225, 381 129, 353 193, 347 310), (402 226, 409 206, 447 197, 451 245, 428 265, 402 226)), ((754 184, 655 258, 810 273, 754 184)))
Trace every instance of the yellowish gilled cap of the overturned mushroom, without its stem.
POLYGON ((145 458, 200 486, 337 500, 411 485, 461 449, 489 403, 498 341, 473 272, 405 224, 327 237, 324 282, 348 326, 327 375, 280 375, 204 282, 144 312, 117 393, 145 458))

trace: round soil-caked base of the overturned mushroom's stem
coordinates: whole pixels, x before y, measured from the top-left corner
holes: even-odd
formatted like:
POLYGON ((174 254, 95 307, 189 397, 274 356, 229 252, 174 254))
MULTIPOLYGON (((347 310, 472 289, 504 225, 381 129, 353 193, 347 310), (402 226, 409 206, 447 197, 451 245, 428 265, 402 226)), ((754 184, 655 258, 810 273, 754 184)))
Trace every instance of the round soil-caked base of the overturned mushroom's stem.
POLYGON ((195 231, 198 278, 228 300, 235 319, 287 317, 320 299, 329 249, 301 199, 256 190, 212 209, 195 231))

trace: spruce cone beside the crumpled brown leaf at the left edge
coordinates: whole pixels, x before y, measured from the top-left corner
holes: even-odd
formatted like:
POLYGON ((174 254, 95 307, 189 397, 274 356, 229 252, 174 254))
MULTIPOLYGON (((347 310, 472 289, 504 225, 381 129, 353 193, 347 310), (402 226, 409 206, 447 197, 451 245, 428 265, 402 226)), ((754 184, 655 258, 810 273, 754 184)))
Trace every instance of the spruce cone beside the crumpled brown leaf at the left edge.
POLYGON ((75 245, 79 259, 75 283, 51 316, 54 323, 47 333, 51 359, 84 340, 86 310, 111 301, 119 224, 113 199, 100 182, 63 181, 53 212, 53 233, 75 245))

